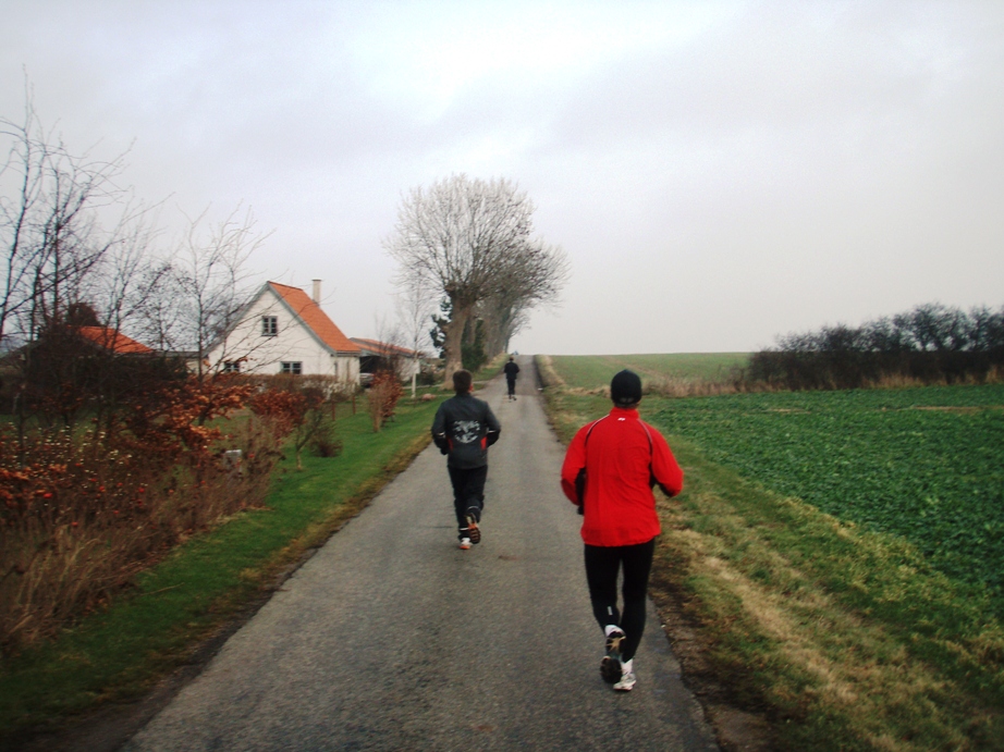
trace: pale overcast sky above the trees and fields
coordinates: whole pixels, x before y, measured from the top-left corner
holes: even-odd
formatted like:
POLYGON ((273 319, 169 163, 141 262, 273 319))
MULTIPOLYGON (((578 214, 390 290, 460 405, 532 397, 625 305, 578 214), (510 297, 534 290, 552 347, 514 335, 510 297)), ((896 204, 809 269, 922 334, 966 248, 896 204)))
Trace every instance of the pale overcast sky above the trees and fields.
MULTIPOLYGON (((573 276, 523 353, 752 350, 1004 305, 1004 2, 0 0, 0 114, 250 207, 260 280, 393 316, 402 195, 504 176, 573 276), (96 146, 95 146, 96 145, 96 146)), ((164 222, 169 214, 164 212, 164 222)))

